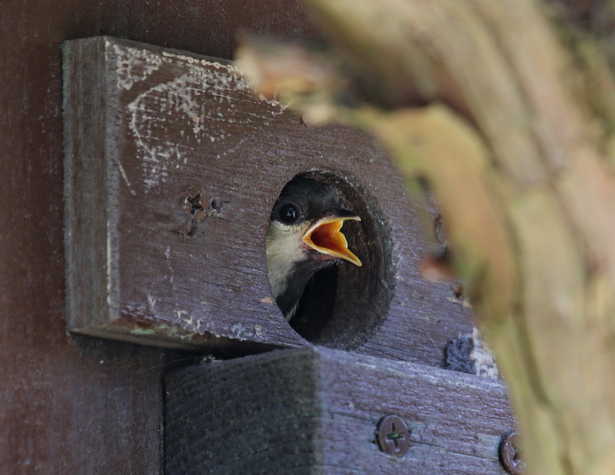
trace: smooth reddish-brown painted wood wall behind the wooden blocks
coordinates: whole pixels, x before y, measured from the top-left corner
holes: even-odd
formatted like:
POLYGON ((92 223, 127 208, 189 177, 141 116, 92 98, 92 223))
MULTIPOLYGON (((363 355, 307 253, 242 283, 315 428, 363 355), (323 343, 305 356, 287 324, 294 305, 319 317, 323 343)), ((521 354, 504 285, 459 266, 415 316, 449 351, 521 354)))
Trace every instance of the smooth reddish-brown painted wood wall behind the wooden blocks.
POLYGON ((66 333, 62 42, 230 58, 239 30, 316 35, 292 0, 0 1, 0 473, 161 475, 161 375, 186 357, 66 333))

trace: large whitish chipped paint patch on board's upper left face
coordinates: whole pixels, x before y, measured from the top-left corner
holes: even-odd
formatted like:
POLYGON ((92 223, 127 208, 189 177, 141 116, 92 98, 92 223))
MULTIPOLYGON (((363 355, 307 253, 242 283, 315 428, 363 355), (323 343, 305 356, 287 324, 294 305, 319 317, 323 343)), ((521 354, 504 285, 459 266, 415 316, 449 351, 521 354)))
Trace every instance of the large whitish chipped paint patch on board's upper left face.
MULTIPOLYGON (((134 84, 159 70, 163 63, 186 63, 181 66, 183 74, 141 92, 127 106, 129 127, 135 137, 142 171, 140 177, 131 178, 120 164, 122 178, 130 193, 135 194, 135 181, 145 185, 145 193, 164 183, 172 170, 188 163, 195 142, 229 142, 226 151, 217 154, 220 158, 235 151, 249 135, 258 133, 255 121, 264 120, 266 125, 266 121, 282 114, 286 108, 275 99, 263 97, 261 100, 268 103, 271 110, 254 114, 252 118, 237 119, 236 113, 242 103, 254 101, 255 98, 242 70, 236 65, 170 52, 159 54, 145 49, 113 46, 117 87, 120 89, 130 90, 134 84), (205 97, 207 100, 204 100, 205 97), (236 123, 247 126, 247 134, 232 137, 227 124, 236 123), (176 129, 180 127, 180 140, 165 140, 171 125, 176 129)), ((161 74, 161 77, 169 78, 168 74, 161 74)))

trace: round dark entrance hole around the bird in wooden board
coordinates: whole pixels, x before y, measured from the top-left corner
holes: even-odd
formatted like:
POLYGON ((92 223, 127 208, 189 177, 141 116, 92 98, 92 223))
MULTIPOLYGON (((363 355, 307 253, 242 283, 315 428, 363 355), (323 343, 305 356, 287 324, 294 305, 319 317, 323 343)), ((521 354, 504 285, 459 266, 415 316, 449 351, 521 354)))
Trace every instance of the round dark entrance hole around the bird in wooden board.
POLYGON ((306 340, 338 349, 365 343, 386 318, 394 291, 392 244, 378 204, 358 180, 343 172, 310 170, 298 176, 335 188, 342 206, 360 221, 341 232, 362 266, 341 261, 314 274, 289 324, 306 340))

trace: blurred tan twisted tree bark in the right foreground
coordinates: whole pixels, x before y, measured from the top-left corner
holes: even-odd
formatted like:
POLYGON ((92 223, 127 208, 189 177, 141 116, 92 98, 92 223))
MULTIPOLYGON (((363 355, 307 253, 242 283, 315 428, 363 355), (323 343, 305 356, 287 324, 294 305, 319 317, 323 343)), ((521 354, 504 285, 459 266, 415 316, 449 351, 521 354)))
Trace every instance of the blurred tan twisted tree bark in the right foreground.
POLYGON ((615 473, 609 58, 531 0, 306 1, 366 97, 394 111, 317 86, 287 97, 369 130, 429 181, 530 473, 615 473))

